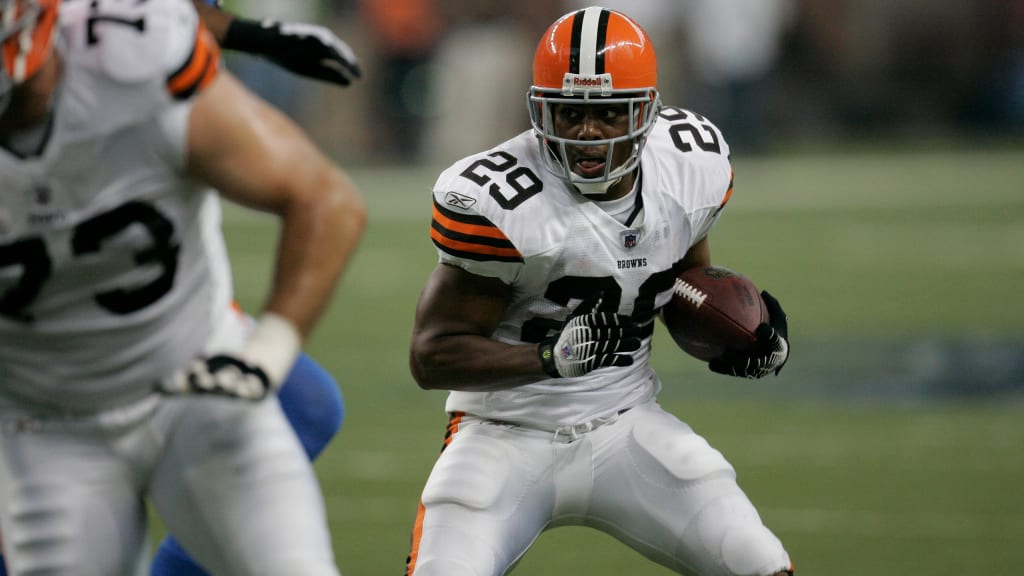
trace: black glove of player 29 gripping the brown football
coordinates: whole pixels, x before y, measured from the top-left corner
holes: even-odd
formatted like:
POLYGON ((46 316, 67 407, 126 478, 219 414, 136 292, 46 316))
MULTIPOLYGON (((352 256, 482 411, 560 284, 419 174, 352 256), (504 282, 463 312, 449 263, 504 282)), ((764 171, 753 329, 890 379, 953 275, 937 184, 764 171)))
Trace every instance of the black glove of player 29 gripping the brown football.
POLYGON ((761 292, 761 298, 768 308, 768 323, 757 329, 758 341, 743 353, 727 351, 725 355, 708 363, 712 372, 739 376, 742 378, 763 378, 774 372, 776 375, 790 359, 790 325, 778 300, 768 292, 761 292))

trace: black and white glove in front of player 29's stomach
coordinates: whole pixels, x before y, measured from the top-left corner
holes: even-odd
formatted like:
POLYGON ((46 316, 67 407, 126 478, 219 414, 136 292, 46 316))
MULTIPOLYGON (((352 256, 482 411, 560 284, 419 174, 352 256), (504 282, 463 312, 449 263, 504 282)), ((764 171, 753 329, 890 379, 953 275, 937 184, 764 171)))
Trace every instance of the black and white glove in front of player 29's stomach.
POLYGON ((595 299, 582 302, 562 331, 538 345, 544 370, 553 378, 583 376, 598 368, 629 366, 640 348, 640 327, 628 316, 594 312, 595 299))

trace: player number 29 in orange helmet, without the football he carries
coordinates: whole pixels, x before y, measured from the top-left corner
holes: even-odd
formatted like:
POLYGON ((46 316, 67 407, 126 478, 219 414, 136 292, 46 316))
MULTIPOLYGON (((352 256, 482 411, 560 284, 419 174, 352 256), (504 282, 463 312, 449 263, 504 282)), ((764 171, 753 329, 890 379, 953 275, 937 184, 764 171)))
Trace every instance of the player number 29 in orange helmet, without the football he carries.
MULTIPOLYGON (((590 526, 690 576, 792 575, 720 452, 655 401, 651 334, 683 270, 711 263, 732 193, 706 118, 662 108, 646 33, 600 7, 544 34, 534 129, 434 186, 439 264, 418 304, 411 368, 452 390, 407 574, 498 576, 544 530, 590 526)), ((711 368, 776 372, 785 316, 711 368)))

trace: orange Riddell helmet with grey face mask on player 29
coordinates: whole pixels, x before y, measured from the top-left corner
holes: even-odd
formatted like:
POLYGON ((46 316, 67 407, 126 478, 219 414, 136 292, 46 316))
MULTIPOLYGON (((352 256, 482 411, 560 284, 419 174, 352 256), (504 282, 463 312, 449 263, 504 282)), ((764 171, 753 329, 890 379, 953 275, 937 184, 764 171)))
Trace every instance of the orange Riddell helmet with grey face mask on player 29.
POLYGON ((654 46, 647 33, 621 12, 591 7, 565 14, 537 46, 534 85, 526 99, 548 169, 584 194, 604 194, 636 169, 647 132, 657 119, 660 96, 654 46), (566 102, 627 105, 630 129, 623 136, 601 140, 560 137, 555 134, 552 105, 566 102), (632 155, 612 166, 614 145, 625 141, 632 142, 632 155), (584 178, 572 171, 567 147, 605 145, 603 175, 584 178))

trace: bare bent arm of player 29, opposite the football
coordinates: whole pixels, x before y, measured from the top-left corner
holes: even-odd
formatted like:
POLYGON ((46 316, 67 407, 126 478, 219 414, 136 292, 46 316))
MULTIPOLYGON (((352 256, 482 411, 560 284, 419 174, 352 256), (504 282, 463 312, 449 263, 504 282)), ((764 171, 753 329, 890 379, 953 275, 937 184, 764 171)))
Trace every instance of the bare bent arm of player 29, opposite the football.
POLYGON ((425 389, 487 390, 546 376, 535 344, 492 339, 512 300, 504 282, 438 264, 420 295, 410 368, 425 389))

